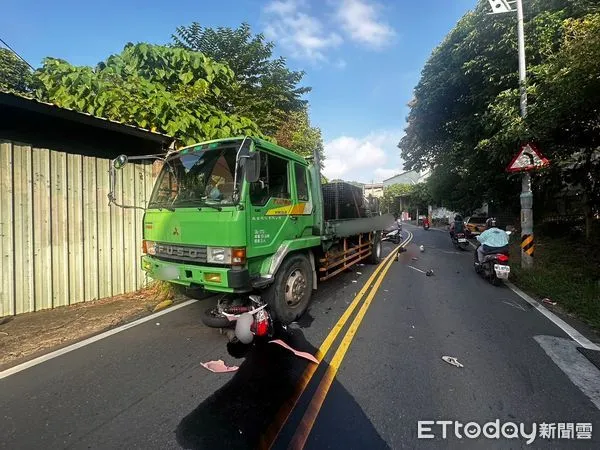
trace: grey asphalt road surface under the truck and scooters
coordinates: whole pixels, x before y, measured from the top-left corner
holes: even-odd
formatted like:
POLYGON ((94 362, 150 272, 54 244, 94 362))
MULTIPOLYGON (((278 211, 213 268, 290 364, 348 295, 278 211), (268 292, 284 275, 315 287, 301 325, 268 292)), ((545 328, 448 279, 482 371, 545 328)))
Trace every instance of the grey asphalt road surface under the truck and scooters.
MULTIPOLYGON (((454 424, 447 439, 434 425, 435 438, 420 440, 424 420, 499 420, 527 432, 533 423, 591 423, 591 440, 538 437, 528 447, 600 448, 600 371, 528 303, 479 278, 472 250, 458 252, 445 233, 405 228, 414 239, 374 292, 331 386, 319 383, 354 316, 287 420, 286 401, 310 363, 274 344, 236 358, 199 321, 209 299, 1 379, 0 448, 256 448, 279 422, 267 443, 287 448, 319 394, 306 448, 527 447, 520 437, 463 431, 459 439, 454 424), (431 277, 421 272, 429 269, 431 277), (213 374, 200 365, 216 359, 240 369, 213 374)), ((323 283, 309 313, 280 337, 315 354, 373 271, 360 266, 323 283)))

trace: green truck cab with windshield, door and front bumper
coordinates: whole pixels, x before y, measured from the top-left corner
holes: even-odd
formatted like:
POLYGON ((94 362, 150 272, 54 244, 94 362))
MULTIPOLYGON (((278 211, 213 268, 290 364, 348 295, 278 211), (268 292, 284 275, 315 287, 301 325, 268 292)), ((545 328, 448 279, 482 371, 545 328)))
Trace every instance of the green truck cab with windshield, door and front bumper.
POLYGON ((143 270, 213 292, 268 285, 282 257, 320 243, 309 169, 257 138, 171 152, 144 214, 143 270))

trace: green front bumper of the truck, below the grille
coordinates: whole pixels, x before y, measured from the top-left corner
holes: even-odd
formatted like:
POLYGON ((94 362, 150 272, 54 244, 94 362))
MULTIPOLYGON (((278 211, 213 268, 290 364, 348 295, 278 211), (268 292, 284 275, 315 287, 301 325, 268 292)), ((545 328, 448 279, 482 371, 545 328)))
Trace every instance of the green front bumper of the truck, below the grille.
POLYGON ((207 267, 162 261, 148 255, 142 256, 142 270, 155 280, 164 280, 184 286, 200 285, 214 292, 250 292, 248 269, 207 267))

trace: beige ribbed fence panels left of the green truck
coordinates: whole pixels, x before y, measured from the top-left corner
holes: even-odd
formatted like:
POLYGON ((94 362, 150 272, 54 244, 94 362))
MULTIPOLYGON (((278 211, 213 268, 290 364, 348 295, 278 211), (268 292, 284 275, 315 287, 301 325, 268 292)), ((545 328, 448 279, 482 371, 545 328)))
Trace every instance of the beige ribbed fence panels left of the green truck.
MULTIPOLYGON (((0 317, 142 287, 142 210, 108 206, 108 159, 0 141, 0 317)), ((117 198, 145 206, 151 164, 118 172, 117 198)))

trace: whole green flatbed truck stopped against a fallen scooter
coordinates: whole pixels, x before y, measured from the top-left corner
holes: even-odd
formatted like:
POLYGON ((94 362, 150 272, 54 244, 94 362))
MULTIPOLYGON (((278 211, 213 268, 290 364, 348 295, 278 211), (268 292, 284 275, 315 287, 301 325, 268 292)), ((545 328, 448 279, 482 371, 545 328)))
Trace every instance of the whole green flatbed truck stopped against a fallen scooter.
MULTIPOLYGON (((351 154, 349 154, 351 157, 351 154)), ((110 202, 116 171, 111 165, 110 202)), ((312 291, 359 262, 378 264, 391 215, 326 220, 318 152, 303 158, 235 137, 170 151, 143 218, 142 269, 189 289, 258 294, 286 324, 312 291)))

